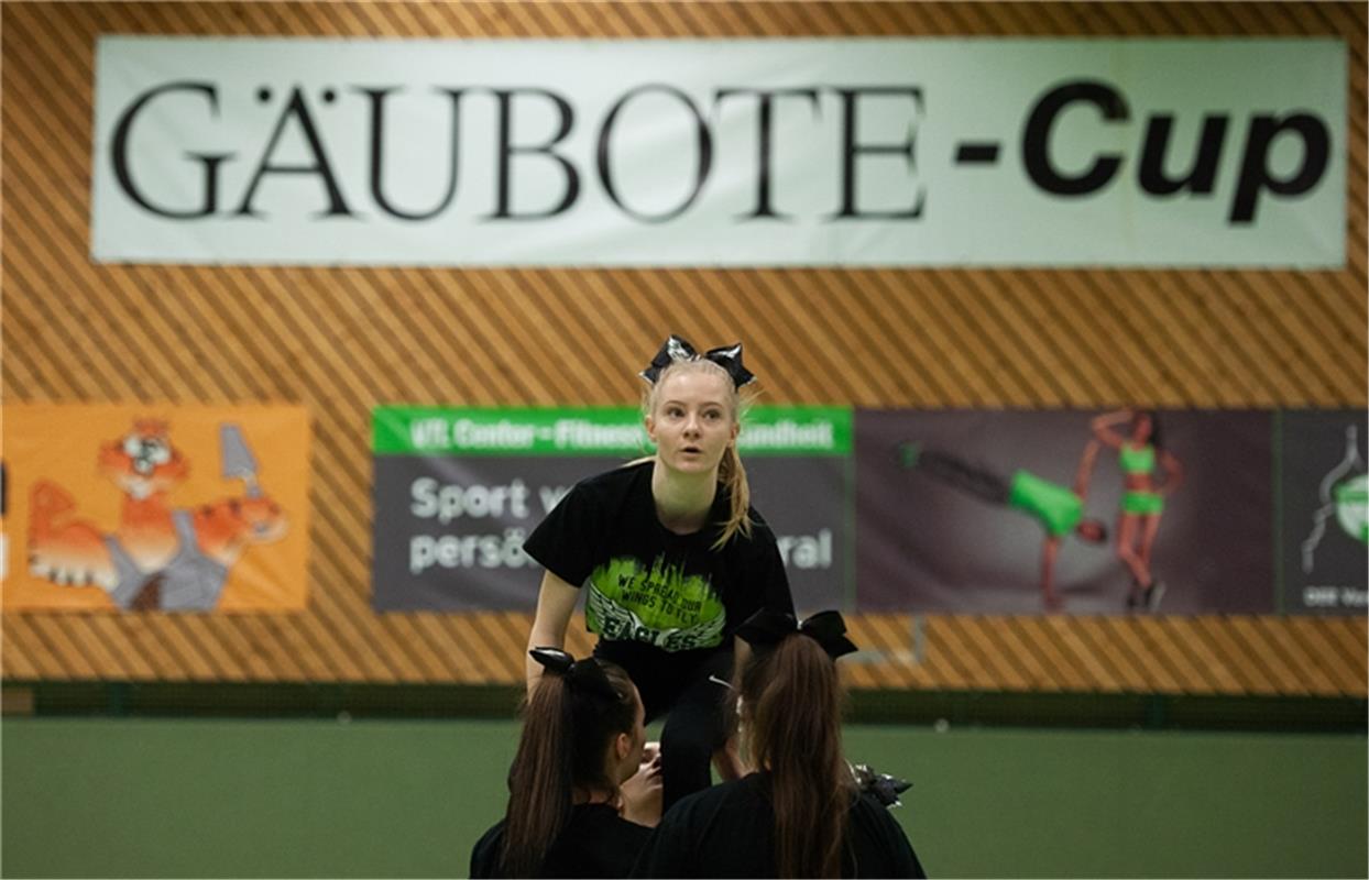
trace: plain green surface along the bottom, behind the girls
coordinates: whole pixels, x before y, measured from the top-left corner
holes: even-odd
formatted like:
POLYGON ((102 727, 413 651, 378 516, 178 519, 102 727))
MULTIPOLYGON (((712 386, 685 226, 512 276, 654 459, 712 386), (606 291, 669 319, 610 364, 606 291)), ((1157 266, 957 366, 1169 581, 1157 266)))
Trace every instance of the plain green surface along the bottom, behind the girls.
MULTIPOLYGON (((1362 734, 849 725, 932 876, 1365 877, 1362 734)), ((513 721, 8 717, 7 877, 464 877, 513 721)))

